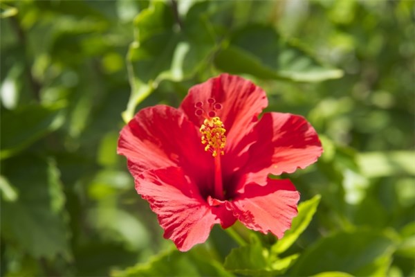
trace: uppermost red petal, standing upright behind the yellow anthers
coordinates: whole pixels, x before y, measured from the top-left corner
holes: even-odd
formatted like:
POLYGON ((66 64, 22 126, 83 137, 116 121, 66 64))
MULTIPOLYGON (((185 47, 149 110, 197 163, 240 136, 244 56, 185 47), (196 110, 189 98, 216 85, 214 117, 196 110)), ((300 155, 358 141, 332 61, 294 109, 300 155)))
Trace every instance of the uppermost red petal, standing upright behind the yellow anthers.
MULTIPOLYGON (((226 129, 223 165, 227 175, 248 159, 249 144, 246 142, 246 135, 252 132, 257 117, 268 105, 268 100, 265 92, 252 82, 236 75, 221 74, 192 87, 180 108, 196 126, 200 126, 204 117, 197 116, 195 111, 202 108, 209 112, 210 98, 221 104, 216 115, 221 118, 226 129), (199 103, 197 108, 196 103, 199 103), (203 106, 199 107, 201 103, 203 106), (243 154, 246 154, 245 157, 243 154)), ((251 140, 250 143, 252 142, 251 140)))

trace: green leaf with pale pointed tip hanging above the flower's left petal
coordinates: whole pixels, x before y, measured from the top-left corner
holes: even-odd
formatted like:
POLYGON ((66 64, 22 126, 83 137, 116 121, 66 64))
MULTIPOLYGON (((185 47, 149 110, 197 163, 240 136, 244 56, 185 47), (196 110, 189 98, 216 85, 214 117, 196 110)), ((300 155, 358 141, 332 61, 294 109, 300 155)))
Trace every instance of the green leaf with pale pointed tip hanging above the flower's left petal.
POLYGON ((181 81, 199 71, 215 51, 208 16, 196 3, 187 12, 183 29, 174 21, 172 7, 153 1, 134 20, 136 41, 127 55, 131 96, 122 118, 128 122, 136 106, 156 89, 162 80, 181 81))

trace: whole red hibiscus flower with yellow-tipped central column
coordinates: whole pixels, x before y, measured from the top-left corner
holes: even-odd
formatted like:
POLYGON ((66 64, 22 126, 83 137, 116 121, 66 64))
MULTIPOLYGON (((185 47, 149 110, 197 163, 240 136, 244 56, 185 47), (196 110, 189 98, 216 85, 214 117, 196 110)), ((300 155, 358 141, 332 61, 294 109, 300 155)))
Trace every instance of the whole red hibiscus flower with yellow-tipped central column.
POLYGON ((118 141, 137 193, 180 251, 205 242, 214 224, 236 220, 282 238, 297 215, 291 173, 314 163, 322 146, 302 117, 264 113, 265 92, 222 74, 192 87, 176 109, 138 111, 118 141))

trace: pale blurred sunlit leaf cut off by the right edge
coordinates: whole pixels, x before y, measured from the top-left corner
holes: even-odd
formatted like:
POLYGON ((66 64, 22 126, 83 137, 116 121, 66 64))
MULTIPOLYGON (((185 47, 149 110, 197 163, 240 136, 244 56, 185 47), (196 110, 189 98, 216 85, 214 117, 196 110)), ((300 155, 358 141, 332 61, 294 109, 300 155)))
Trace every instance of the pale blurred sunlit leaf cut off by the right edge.
POLYGON ((363 175, 371 178, 415 176, 414 157, 414 151, 366 152, 358 154, 358 163, 363 175))

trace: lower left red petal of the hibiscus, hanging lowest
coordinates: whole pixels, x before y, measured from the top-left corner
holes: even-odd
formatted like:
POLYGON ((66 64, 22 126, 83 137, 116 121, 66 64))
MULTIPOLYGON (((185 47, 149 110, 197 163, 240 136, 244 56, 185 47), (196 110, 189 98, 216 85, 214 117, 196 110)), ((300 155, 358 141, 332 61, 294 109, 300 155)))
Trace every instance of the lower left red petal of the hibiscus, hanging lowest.
POLYGON ((164 238, 172 240, 180 251, 205 242, 212 226, 220 223, 181 168, 142 172, 136 179, 136 190, 157 214, 164 238))

